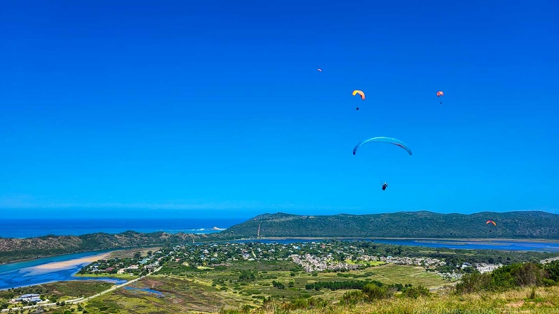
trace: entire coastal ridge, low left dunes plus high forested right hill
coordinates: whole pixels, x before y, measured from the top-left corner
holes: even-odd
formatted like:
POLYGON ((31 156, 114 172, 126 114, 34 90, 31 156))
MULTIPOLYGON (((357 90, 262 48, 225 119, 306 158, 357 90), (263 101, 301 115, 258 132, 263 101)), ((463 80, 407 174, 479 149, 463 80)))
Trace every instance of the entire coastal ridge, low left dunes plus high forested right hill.
MULTIPOLYGON (((215 230, 220 230, 214 227, 215 230)), ((471 215, 395 212, 373 215, 263 214, 213 234, 47 235, 0 238, 0 263, 92 250, 229 241, 246 238, 510 238, 559 240, 559 215, 540 211, 471 215), (487 220, 495 222, 486 224, 487 220)))

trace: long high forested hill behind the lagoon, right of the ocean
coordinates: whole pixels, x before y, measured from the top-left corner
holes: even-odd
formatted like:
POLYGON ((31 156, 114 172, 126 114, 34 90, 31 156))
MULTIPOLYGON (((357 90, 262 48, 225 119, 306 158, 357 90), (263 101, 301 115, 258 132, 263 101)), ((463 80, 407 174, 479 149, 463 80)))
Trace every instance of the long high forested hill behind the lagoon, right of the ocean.
POLYGON ((471 215, 395 212, 374 215, 258 215, 222 234, 256 237, 546 238, 559 239, 559 215, 479 212, 471 215), (488 219, 497 225, 486 224, 488 219))

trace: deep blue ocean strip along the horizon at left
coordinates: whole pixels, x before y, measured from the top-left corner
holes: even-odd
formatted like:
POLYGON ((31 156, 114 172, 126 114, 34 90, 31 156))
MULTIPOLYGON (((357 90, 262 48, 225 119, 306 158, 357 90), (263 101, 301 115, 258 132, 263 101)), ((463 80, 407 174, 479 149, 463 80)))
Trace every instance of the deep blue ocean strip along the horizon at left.
POLYGON ((235 224, 245 222, 248 218, 239 219, 0 219, 0 237, 32 238, 35 236, 79 236, 81 234, 119 234, 133 230, 138 232, 165 231, 172 234, 184 232, 188 234, 208 234, 227 229, 235 224))

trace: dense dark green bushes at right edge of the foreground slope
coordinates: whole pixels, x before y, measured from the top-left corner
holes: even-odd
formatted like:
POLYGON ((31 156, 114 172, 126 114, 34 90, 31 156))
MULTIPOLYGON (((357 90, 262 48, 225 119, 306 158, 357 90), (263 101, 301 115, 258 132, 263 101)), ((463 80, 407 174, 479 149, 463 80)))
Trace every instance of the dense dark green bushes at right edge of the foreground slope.
POLYGON ((493 272, 464 274, 456 285, 458 294, 477 291, 505 291, 519 286, 553 286, 559 284, 559 261, 505 265, 493 272))

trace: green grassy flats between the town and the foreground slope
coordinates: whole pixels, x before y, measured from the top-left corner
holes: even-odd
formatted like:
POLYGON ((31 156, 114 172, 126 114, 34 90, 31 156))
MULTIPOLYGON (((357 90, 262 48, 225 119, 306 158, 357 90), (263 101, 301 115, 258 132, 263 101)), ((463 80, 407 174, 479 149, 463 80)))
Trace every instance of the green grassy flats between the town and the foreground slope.
MULTIPOLYGON (((380 265, 366 270, 344 272, 354 277, 339 277, 337 273, 310 273, 296 270, 292 262, 239 262, 214 270, 190 268, 176 274, 154 275, 131 286, 160 291, 163 297, 145 291, 119 289, 112 294, 95 298, 85 308, 90 313, 187 313, 212 312, 221 308, 241 308, 246 304, 260 306, 263 298, 293 301, 297 298, 316 296, 336 302, 347 291, 306 290, 305 285, 318 281, 348 281, 373 279, 386 284, 423 284, 435 287, 448 284, 441 277, 426 272, 421 267, 380 265), (251 271, 254 280, 239 281, 241 271, 251 271), (372 272, 372 274, 371 274, 372 272), (368 273, 368 276, 365 274, 368 273), (285 289, 278 289, 272 281, 282 282, 285 289), (292 282, 292 286, 289 286, 292 282), (162 310, 164 308, 165 310, 162 310), (120 312, 119 312, 120 311, 120 312)), ((179 268, 177 268, 178 270, 179 268)))

